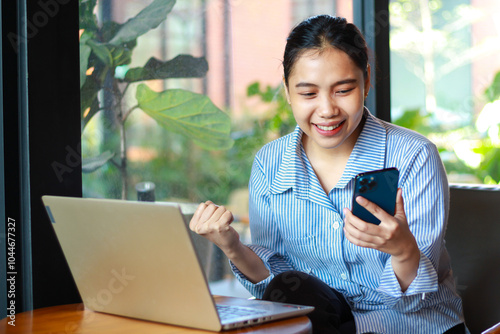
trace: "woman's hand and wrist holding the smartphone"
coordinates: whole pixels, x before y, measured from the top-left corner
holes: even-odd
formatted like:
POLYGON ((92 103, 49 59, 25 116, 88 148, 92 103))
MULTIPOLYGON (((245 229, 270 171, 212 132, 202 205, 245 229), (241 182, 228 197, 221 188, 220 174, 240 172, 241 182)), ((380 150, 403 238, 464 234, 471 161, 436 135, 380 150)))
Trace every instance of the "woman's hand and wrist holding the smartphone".
POLYGON ((367 223, 344 209, 346 238, 360 247, 377 249, 392 255, 392 266, 405 291, 417 275, 420 251, 410 231, 404 211, 402 190, 396 196, 394 216, 373 202, 359 196, 356 201, 380 220, 380 225, 367 223))

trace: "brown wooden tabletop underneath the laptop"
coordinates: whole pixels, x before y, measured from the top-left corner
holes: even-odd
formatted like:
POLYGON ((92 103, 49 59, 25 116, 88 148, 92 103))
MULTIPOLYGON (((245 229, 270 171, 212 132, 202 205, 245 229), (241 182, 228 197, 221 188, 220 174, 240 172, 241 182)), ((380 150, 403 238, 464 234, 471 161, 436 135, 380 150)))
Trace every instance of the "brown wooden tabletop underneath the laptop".
MULTIPOLYGON (((15 324, 8 324, 9 318, 0 320, 2 333, 209 333, 204 330, 170 326, 156 322, 142 321, 110 314, 94 312, 83 304, 60 305, 16 314, 15 324)), ((312 333, 308 317, 302 316, 245 329, 224 331, 233 333, 312 333)))

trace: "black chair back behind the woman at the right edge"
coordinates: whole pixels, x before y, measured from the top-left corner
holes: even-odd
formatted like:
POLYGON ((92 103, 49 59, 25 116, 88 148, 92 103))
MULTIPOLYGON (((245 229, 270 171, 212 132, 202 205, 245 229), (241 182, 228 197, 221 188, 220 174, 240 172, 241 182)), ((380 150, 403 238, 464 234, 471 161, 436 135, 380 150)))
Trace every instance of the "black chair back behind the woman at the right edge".
POLYGON ((446 247, 467 327, 500 333, 500 187, 450 186, 446 247))

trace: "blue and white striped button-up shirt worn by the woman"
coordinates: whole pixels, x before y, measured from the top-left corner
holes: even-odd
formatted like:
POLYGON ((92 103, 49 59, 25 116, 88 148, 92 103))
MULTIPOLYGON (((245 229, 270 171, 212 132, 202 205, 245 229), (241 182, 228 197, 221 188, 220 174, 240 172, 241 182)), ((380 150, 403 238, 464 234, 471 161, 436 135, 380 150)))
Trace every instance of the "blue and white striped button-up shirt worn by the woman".
POLYGON ((270 276, 256 284, 232 265, 238 280, 261 297, 286 270, 312 274, 341 292, 358 333, 443 333, 464 322, 444 234, 448 183, 434 144, 366 111, 366 122, 337 185, 326 194, 302 147, 299 127, 265 145, 250 177, 249 247, 270 276), (396 167, 405 212, 420 249, 416 278, 401 291, 390 255, 358 247, 343 232, 354 176, 396 167))

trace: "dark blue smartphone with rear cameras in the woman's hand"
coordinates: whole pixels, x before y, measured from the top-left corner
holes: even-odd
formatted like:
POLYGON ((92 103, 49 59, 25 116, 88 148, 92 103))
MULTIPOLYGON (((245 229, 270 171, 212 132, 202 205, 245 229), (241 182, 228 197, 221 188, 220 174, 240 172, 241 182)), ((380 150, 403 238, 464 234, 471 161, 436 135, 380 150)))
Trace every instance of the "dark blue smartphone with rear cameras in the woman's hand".
POLYGON ((380 224, 380 220, 356 202, 362 196, 377 204, 385 212, 394 215, 396 194, 398 191, 399 171, 391 167, 360 173, 354 178, 354 194, 352 196, 352 213, 372 224, 380 224))

